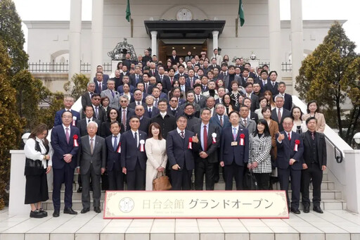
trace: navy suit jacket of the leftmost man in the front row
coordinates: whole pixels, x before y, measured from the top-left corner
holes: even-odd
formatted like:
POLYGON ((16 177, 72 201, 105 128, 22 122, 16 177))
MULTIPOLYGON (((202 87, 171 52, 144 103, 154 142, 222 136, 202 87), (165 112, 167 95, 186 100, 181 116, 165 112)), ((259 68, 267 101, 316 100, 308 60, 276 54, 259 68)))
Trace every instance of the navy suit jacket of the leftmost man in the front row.
POLYGON ((53 127, 51 130, 51 146, 53 147, 53 168, 61 169, 65 167, 65 164, 70 165, 70 168, 76 168, 77 166, 77 151, 79 146, 74 146, 74 135, 77 135, 77 143, 81 144, 80 132, 77 127, 70 126, 70 139, 69 143, 66 141, 65 131, 63 125, 53 127), (64 155, 70 153, 72 160, 70 163, 66 163, 64 155))

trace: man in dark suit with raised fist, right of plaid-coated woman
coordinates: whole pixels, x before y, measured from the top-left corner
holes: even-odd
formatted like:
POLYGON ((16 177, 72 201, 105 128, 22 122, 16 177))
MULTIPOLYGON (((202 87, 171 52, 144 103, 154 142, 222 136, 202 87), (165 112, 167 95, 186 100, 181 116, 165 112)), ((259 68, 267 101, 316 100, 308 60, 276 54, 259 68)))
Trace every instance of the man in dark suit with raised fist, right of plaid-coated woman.
POLYGON ((278 167, 278 179, 281 190, 286 191, 288 209, 295 214, 300 214, 300 182, 302 170, 302 153, 304 145, 300 134, 292 131, 293 119, 284 118, 283 131, 276 134, 276 146, 278 154, 276 165, 278 167), (291 177, 291 206, 288 196, 289 177, 291 177))

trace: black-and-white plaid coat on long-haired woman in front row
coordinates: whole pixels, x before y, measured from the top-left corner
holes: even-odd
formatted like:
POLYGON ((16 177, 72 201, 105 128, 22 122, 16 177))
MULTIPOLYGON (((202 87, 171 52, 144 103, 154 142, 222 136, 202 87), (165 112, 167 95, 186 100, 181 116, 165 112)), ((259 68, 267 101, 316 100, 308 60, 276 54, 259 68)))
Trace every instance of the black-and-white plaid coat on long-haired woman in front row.
POLYGON ((250 134, 250 163, 258 163, 257 168, 253 169, 255 173, 269 173, 271 169, 271 136, 259 138, 258 135, 250 134))

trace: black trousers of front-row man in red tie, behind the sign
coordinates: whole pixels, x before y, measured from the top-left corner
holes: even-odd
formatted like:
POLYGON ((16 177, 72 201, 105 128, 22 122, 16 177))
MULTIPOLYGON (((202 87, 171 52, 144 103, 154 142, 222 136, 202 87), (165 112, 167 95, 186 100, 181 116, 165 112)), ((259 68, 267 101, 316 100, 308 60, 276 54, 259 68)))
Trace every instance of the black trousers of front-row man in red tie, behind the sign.
POLYGON ((201 158, 195 163, 195 190, 203 190, 204 174, 206 190, 214 190, 214 163, 201 158))

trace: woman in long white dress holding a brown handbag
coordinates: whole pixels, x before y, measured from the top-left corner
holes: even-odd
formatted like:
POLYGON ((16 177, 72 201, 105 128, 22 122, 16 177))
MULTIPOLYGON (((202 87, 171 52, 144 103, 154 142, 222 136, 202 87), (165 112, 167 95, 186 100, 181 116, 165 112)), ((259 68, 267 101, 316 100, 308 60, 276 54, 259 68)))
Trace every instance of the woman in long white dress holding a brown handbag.
POLYGON ((153 122, 149 126, 149 138, 145 142, 146 161, 146 191, 153 191, 153 179, 158 172, 165 172, 167 155, 166 141, 162 138, 161 127, 153 122))

